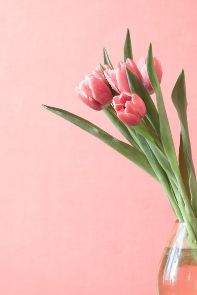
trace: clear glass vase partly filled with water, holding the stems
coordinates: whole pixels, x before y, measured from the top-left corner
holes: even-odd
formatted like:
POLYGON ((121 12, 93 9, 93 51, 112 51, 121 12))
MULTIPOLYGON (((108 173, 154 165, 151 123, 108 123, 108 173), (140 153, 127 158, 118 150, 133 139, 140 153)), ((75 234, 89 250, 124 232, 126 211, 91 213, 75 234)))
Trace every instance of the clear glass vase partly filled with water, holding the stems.
POLYGON ((176 221, 158 270, 158 295, 197 295, 197 241, 188 233, 191 224, 176 221))

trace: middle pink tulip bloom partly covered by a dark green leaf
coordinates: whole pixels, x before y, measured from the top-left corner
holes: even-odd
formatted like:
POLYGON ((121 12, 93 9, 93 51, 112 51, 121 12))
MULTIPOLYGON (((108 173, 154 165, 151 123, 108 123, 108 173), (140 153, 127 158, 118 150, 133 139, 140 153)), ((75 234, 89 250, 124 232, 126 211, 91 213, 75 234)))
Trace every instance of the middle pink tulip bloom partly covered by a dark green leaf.
POLYGON ((136 64, 134 63, 134 61, 132 59, 127 59, 126 62, 118 61, 116 63, 116 66, 115 66, 114 70, 106 69, 104 71, 104 74, 105 74, 105 77, 106 77, 107 81, 109 82, 111 87, 114 90, 116 90, 118 93, 121 93, 121 92, 124 92, 124 91, 131 92, 130 88, 129 88, 129 83, 128 83, 128 80, 127 80, 127 73, 126 73, 126 68, 125 68, 126 66, 143 83, 142 75, 141 75, 140 71, 138 70, 136 64))

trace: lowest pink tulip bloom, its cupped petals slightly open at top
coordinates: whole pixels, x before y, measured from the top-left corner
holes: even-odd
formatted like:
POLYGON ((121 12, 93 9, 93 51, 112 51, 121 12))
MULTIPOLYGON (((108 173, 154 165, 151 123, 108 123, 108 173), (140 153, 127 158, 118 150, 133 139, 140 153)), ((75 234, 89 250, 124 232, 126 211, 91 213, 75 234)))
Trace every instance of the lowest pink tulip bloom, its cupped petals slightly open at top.
POLYGON ((114 96, 113 106, 117 117, 129 126, 136 126, 146 115, 146 106, 141 97, 130 92, 114 96))

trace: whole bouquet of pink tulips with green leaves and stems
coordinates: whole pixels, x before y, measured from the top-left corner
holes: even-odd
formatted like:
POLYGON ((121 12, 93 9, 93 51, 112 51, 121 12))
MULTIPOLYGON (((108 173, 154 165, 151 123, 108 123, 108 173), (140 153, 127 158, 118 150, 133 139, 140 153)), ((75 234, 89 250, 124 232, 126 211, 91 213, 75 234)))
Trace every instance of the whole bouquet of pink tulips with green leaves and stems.
POLYGON ((93 110, 102 110, 128 143, 114 138, 84 118, 43 106, 99 138, 161 183, 178 220, 189 223, 188 233, 195 245, 197 182, 187 123, 184 71, 181 71, 172 91, 172 101, 181 126, 177 159, 160 87, 162 67, 160 61, 153 58, 152 45, 147 57, 141 58, 136 65, 128 29, 124 61, 118 61, 113 68, 105 48, 103 57, 103 64, 86 75, 76 93, 93 110), (157 108, 150 96, 154 92, 157 108))

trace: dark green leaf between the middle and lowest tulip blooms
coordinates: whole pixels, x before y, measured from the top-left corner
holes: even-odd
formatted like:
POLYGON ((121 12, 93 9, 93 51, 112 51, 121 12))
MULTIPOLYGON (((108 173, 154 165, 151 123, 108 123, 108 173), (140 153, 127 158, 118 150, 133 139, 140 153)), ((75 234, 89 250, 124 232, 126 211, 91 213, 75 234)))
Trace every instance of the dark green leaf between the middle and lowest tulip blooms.
POLYGON ((126 67, 126 72, 131 93, 137 93, 144 101, 147 110, 146 116, 153 125, 157 134, 160 136, 159 115, 152 98, 150 97, 148 91, 145 89, 143 84, 139 81, 135 74, 131 72, 131 70, 128 67, 126 67))

